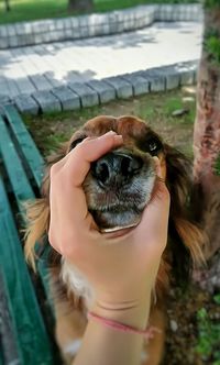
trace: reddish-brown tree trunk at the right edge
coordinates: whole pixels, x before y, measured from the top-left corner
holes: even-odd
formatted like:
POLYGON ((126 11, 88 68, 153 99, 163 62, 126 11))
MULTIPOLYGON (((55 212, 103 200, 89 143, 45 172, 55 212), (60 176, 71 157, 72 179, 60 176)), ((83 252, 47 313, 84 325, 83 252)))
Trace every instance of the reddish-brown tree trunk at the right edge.
POLYGON ((194 134, 194 206, 210 245, 220 247, 220 2, 205 1, 205 36, 198 75, 194 134))

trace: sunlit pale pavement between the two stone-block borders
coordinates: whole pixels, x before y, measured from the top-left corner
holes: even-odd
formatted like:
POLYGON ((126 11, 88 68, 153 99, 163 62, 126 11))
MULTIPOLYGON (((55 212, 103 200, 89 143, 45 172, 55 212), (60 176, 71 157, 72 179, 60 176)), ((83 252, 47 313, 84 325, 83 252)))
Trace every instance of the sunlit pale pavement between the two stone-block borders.
POLYGON ((158 22, 135 32, 0 51, 0 97, 198 59, 199 22, 158 22))

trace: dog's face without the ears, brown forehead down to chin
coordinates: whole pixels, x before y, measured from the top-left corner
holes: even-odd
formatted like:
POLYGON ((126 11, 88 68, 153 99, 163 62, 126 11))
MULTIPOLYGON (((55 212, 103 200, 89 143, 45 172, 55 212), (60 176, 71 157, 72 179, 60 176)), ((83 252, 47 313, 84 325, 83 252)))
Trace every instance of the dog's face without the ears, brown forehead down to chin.
POLYGON ((95 118, 73 136, 69 150, 111 130, 123 136, 123 145, 94 162, 84 181, 89 211, 103 232, 140 222, 155 184, 153 156, 160 157, 165 177, 163 144, 136 118, 95 118))

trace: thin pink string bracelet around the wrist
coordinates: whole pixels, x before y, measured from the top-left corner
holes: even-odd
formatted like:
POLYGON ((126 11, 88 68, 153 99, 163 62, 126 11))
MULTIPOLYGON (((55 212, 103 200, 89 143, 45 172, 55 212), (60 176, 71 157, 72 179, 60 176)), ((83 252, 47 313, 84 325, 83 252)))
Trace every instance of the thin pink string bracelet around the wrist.
POLYGON ((162 331, 160 329, 157 329, 156 327, 150 327, 146 330, 138 330, 131 325, 122 324, 120 322, 109 320, 108 318, 100 317, 94 312, 88 312, 87 317, 88 317, 88 319, 95 319, 96 321, 98 321, 111 329, 119 330, 121 332, 141 334, 146 340, 153 339, 155 333, 162 333, 162 331))

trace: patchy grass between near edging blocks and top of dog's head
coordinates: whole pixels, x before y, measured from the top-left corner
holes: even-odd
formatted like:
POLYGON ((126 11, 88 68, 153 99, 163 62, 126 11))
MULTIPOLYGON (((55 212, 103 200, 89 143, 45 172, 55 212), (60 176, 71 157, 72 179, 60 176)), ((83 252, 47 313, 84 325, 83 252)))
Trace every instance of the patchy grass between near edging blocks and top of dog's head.
POLYGON ((176 145, 189 157, 193 156, 193 125, 195 120, 195 90, 175 90, 166 93, 151 93, 106 106, 75 112, 28 118, 25 123, 44 155, 50 155, 62 142, 67 141, 76 129, 97 114, 134 114, 147 123, 169 144, 176 145), (190 93, 189 93, 190 91, 190 93), (188 112, 173 117, 173 112, 186 109, 188 112))

